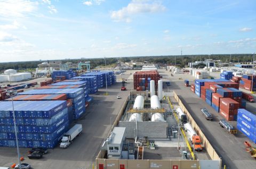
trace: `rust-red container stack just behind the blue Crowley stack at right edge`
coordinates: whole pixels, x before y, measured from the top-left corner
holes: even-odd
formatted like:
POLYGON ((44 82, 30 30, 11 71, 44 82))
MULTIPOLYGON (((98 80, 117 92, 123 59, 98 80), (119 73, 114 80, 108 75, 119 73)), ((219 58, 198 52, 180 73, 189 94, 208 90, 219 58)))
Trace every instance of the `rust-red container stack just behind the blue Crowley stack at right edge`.
POLYGON ((231 98, 220 99, 220 115, 222 115, 228 121, 237 120, 237 109, 239 103, 231 98))

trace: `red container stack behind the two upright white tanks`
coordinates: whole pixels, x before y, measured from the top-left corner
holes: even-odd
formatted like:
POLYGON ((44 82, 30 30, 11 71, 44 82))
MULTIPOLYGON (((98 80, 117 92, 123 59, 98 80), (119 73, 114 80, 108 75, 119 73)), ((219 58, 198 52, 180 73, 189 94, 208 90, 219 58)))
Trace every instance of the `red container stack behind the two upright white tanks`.
MULTIPOLYGON (((150 80, 155 81, 155 89, 157 89, 157 82, 160 80, 159 73, 157 71, 139 71, 133 74, 133 89, 140 88, 140 78, 145 78, 145 83, 149 83, 150 80), (150 79, 149 79, 150 78, 150 79)), ((145 89, 149 89, 148 86, 145 89)), ((142 89, 141 89, 142 90, 142 89)))

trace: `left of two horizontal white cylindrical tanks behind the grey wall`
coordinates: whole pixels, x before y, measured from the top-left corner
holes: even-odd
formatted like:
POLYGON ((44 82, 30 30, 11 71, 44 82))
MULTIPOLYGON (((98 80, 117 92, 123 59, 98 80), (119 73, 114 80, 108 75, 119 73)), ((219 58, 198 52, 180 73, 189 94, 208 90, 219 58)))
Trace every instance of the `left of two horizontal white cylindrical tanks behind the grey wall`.
MULTIPOLYGON (((135 98, 134 104, 133 104, 133 109, 142 109, 144 108, 144 98, 143 96, 137 96, 135 98)), ((143 121, 142 120, 142 114, 140 113, 132 113, 129 121, 143 121)))

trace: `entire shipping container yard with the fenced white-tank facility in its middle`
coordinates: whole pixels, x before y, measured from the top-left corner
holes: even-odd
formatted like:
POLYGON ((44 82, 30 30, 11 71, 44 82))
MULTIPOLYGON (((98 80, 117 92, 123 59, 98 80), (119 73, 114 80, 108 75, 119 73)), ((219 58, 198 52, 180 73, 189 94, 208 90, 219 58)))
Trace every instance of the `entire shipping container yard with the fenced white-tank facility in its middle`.
MULTIPOLYGON (((244 141, 255 144, 255 137, 245 136, 254 132, 254 124, 249 123, 251 130, 246 130, 246 119, 242 115, 246 111, 238 109, 245 108, 241 102, 242 91, 237 90, 238 83, 226 79, 195 81, 189 73, 172 75, 165 69, 127 71, 107 81, 106 95, 106 81, 98 74, 102 73, 55 79, 55 83, 47 79, 12 97, 14 111, 17 108, 20 154, 26 163, 33 168, 112 168, 110 164, 122 162, 130 168, 150 166, 147 160, 154 160, 154 165, 165 167, 241 168, 246 160, 247 168, 254 167, 255 159, 244 146, 244 141), (127 79, 124 91, 122 79, 127 79), (196 93, 197 81, 204 81, 204 86, 196 93), (226 88, 222 88, 224 86, 226 88), (219 101, 209 98, 209 94, 216 95, 219 101), (217 103, 219 106, 211 106, 217 103), (201 108, 208 112, 202 113, 201 108), (220 127, 222 119, 228 122, 223 123, 224 128, 220 127), (73 138, 70 140, 73 142, 70 146, 61 148, 63 134, 75 124, 82 124, 81 134, 74 142, 73 138), (225 125, 234 129, 226 129, 225 125), (218 132, 211 132, 213 130, 218 132), (118 143, 116 137, 121 138, 118 143), (41 159, 28 159, 27 152, 33 147, 47 148, 48 152, 41 159)), ((215 74, 218 77, 217 72, 215 74)), ((12 99, 0 103, 1 166, 17 163, 12 99)), ((254 108, 254 103, 246 102, 249 112, 254 108)), ((254 118, 253 114, 246 115, 254 118)))

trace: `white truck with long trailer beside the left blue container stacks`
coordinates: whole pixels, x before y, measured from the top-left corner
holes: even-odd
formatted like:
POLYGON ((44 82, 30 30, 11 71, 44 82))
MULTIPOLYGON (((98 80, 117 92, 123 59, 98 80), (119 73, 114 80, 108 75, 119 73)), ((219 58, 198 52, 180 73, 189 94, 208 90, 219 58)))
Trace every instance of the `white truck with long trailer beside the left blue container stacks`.
POLYGON ((80 136, 82 130, 82 124, 76 124, 69 129, 61 139, 60 148, 67 148, 77 136, 80 136))

